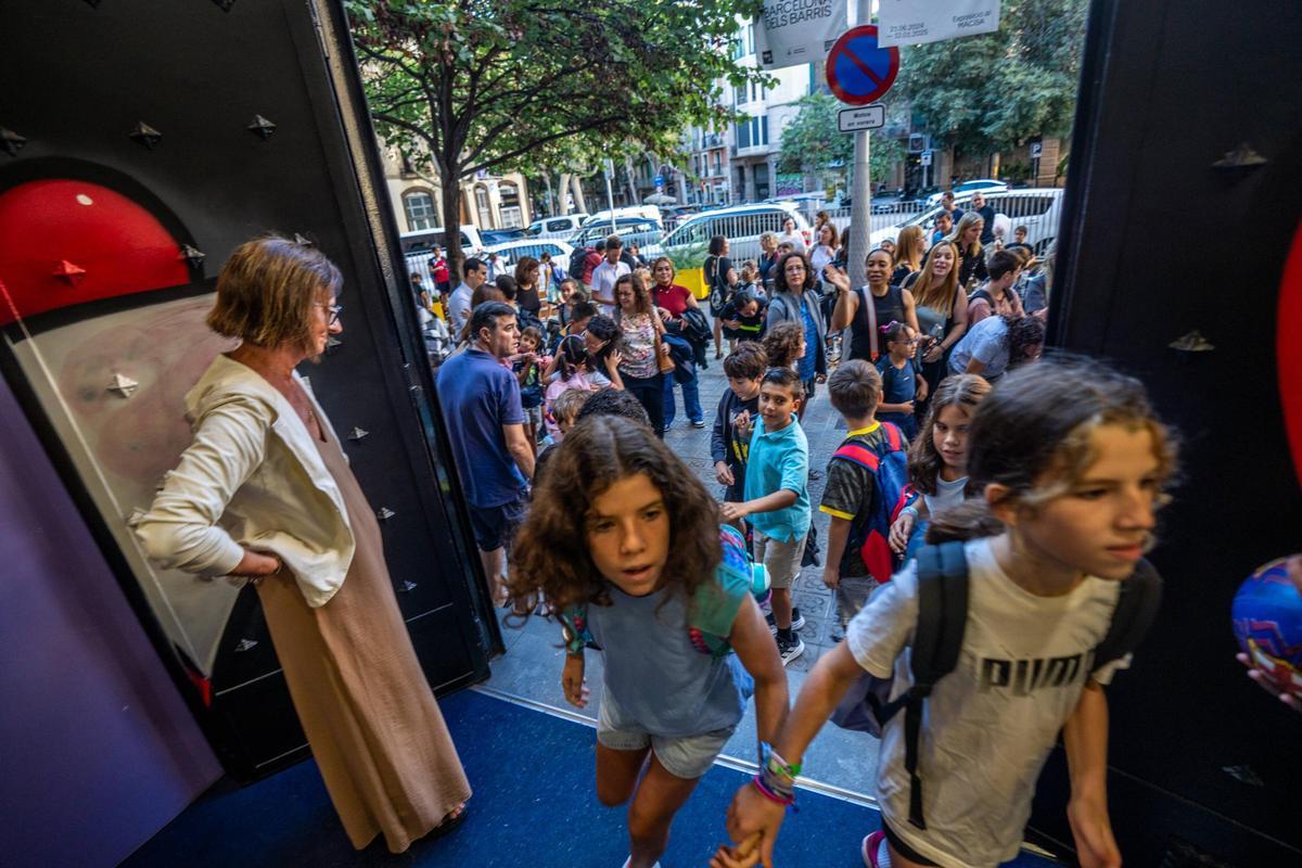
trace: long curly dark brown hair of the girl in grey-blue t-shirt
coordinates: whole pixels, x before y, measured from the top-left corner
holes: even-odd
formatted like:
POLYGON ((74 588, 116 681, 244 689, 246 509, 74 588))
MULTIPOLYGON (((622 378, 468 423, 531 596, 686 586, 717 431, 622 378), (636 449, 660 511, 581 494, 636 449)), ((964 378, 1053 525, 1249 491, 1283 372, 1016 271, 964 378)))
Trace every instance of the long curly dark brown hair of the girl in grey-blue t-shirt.
POLYGON ((587 514, 611 484, 637 474, 660 489, 669 517, 665 587, 691 600, 697 587, 711 580, 723 549, 719 506, 710 492, 648 426, 590 416, 556 448, 516 537, 508 586, 517 613, 527 618, 538 592, 552 612, 579 603, 609 605, 609 583, 589 554, 587 514))

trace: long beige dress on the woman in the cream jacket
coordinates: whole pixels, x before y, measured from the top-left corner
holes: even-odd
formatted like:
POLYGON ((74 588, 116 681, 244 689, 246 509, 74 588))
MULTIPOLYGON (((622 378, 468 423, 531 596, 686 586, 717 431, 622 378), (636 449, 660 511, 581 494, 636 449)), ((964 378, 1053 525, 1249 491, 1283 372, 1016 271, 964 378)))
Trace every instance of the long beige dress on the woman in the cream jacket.
POLYGON ((316 444, 342 492, 357 554, 318 609, 290 576, 260 583, 258 596, 344 830, 358 850, 383 834, 391 852, 402 852, 470 798, 470 782, 411 648, 375 514, 339 445, 316 444))

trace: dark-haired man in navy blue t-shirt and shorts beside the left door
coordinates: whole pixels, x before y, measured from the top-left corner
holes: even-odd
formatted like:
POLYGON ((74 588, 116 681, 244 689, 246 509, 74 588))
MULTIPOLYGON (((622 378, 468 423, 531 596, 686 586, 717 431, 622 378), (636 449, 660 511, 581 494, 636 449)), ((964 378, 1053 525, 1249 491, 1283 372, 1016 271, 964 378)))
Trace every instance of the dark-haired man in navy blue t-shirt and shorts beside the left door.
POLYGON ((484 302, 470 315, 470 347, 443 363, 436 380, 448 442, 470 504, 470 524, 492 584, 506 601, 506 545, 525 518, 534 450, 525 435, 519 383, 503 364, 516 351, 516 311, 484 302))

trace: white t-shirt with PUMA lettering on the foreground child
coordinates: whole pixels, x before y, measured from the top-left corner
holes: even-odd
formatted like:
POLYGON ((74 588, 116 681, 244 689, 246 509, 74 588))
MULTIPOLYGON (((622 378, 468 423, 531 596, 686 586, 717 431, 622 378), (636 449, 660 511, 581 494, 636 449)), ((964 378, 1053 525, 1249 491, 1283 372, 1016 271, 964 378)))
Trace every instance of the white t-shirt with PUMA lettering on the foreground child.
MULTIPOLYGON (((878 799, 891 829, 945 868, 984 868, 1017 855, 1035 781, 1075 711, 1095 647, 1112 623, 1118 582, 1088 576, 1060 597, 1035 596, 995 562, 990 540, 965 545, 970 591, 963 648, 924 705, 918 770, 927 829, 909 822, 901 709, 887 725, 878 799)), ((910 562, 874 592, 846 643, 867 671, 894 671, 892 699, 911 683, 907 645, 918 622, 918 573, 910 562)), ((1108 683, 1129 665, 1095 675, 1108 683)))

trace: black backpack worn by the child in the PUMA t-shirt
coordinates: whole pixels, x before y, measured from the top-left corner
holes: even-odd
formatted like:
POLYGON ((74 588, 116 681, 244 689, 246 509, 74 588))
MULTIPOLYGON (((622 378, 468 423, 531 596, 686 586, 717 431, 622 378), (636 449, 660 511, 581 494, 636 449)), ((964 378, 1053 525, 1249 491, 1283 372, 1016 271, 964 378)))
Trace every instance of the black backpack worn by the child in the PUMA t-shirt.
MULTIPOLYGON (((918 550, 918 626, 910 645, 909 669, 913 686, 891 700, 894 677, 878 678, 863 673, 832 712, 832 722, 842 729, 871 733, 881 738, 887 722, 904 709, 904 766, 909 772, 909 822, 927 828, 922 813, 922 777, 918 774, 918 737, 922 730, 922 704, 936 682, 958 665, 967 625, 967 557, 962 543, 924 545, 918 550)), ((1120 660, 1139 644, 1157 616, 1161 603, 1161 576, 1148 561, 1121 583, 1121 596, 1103 642, 1094 649, 1091 673, 1120 660)))

